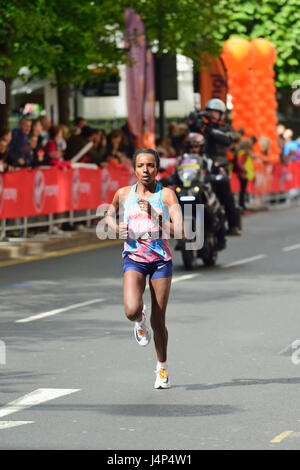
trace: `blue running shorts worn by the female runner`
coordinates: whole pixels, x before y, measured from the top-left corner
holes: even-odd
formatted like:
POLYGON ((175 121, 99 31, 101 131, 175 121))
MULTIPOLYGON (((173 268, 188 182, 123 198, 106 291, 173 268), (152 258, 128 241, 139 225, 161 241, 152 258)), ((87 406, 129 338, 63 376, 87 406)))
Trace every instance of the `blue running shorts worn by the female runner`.
POLYGON ((145 277, 149 274, 150 279, 158 279, 160 277, 171 277, 173 274, 173 261, 159 260, 151 263, 134 261, 128 255, 123 258, 123 272, 129 270, 138 271, 145 277))

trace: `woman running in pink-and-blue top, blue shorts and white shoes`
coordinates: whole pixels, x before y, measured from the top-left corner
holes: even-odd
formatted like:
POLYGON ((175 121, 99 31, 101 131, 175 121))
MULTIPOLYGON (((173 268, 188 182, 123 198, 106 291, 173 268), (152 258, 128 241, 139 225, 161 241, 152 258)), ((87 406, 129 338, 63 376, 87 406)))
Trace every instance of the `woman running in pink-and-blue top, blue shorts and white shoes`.
POLYGON ((140 346, 146 346, 151 337, 143 303, 149 274, 150 324, 157 355, 154 388, 165 389, 170 387, 165 320, 173 271, 168 238, 184 239, 183 220, 174 191, 162 188, 156 181, 158 153, 153 149, 137 150, 132 163, 138 181, 118 189, 106 213, 106 222, 120 238, 126 238, 122 253, 124 309, 127 318, 134 322, 134 336, 140 346), (120 216, 122 209, 123 222, 117 224, 116 214, 120 216))

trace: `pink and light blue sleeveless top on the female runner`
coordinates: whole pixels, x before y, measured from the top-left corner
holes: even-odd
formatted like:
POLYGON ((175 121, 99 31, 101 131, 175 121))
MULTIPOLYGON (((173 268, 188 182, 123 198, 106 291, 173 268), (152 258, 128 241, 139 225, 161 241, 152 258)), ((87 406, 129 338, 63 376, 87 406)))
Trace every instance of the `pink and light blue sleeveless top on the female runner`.
MULTIPOLYGON (((138 205, 139 196, 136 194, 137 183, 134 184, 124 204, 124 222, 128 224, 128 237, 124 243, 123 258, 128 255, 134 261, 151 263, 154 261, 169 261, 172 252, 166 233, 163 231, 158 238, 159 222, 142 211, 138 205), (130 237, 131 235, 131 237, 130 237)), ((156 183, 153 196, 147 200, 162 218, 170 220, 168 207, 162 202, 161 183, 156 183)))

